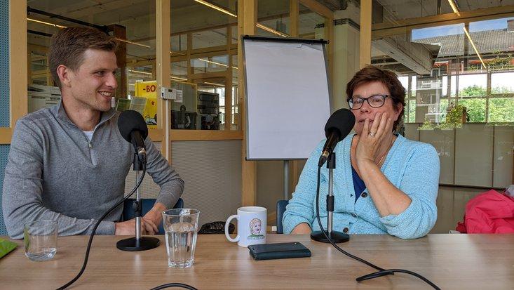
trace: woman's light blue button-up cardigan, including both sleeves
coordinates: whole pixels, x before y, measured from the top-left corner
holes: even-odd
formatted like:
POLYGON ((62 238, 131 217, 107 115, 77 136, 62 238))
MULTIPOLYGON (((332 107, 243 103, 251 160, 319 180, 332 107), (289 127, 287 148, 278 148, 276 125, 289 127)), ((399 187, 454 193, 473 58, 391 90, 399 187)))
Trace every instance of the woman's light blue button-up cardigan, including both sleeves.
MULTIPOLYGON (((402 239, 414 239, 426 235, 437 220, 435 199, 438 195, 439 157, 432 145, 408 140, 398 135, 381 167, 395 187, 412 199, 403 213, 381 217, 372 198, 361 195, 355 202, 355 190, 351 175, 350 147, 353 135, 339 142, 334 149, 334 214, 333 230, 349 234, 386 234, 402 239)), ((313 230, 320 230, 316 219, 316 175, 318 159, 325 140, 307 160, 299 183, 292 194, 283 216, 284 233, 289 234, 299 223, 308 223, 313 230)), ((326 164, 320 176, 320 218, 327 229, 326 199, 328 193, 328 169, 326 164)))

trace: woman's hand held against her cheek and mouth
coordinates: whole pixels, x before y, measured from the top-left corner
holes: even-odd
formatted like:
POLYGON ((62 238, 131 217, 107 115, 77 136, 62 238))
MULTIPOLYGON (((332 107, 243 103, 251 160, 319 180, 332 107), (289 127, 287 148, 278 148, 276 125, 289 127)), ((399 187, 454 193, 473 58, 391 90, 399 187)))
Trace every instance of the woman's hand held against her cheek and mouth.
POLYGON ((357 166, 363 162, 375 163, 379 148, 384 142, 390 141, 393 121, 386 112, 375 114, 373 124, 370 126, 370 119, 365 119, 363 131, 356 136, 356 162, 357 166))

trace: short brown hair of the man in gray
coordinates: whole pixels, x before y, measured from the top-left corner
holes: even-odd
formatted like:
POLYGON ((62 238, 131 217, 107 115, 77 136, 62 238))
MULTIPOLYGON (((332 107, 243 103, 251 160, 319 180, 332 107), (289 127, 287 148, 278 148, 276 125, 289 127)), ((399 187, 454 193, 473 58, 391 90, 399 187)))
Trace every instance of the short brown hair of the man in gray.
POLYGON ((88 49, 116 51, 118 41, 109 34, 93 27, 67 27, 54 34, 50 40, 48 64, 53 80, 61 87, 57 67, 65 65, 76 71, 83 62, 84 52, 88 49))

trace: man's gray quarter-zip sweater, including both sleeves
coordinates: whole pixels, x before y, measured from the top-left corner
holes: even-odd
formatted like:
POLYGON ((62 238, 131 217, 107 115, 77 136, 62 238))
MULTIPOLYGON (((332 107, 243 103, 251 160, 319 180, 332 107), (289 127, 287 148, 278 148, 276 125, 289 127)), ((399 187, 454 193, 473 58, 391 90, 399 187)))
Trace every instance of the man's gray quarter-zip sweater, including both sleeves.
MULTIPOLYGON (((23 237, 32 220, 58 220, 59 235, 88 235, 97 219, 123 197, 133 147, 121 137, 119 112, 102 113, 88 140, 62 104, 28 114, 16 122, 4 178, 2 210, 9 236, 23 237)), ((172 207, 184 181, 149 138, 147 173, 161 187, 157 202, 172 207)), ((123 205, 97 228, 114 235, 123 205)))

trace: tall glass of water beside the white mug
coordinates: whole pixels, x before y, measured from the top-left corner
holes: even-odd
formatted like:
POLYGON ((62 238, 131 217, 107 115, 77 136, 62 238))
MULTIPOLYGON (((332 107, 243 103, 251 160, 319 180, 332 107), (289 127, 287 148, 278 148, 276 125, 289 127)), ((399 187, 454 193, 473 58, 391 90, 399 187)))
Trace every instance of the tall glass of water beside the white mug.
POLYGON ((199 215, 197 209, 163 211, 168 266, 188 268, 193 265, 199 215))

